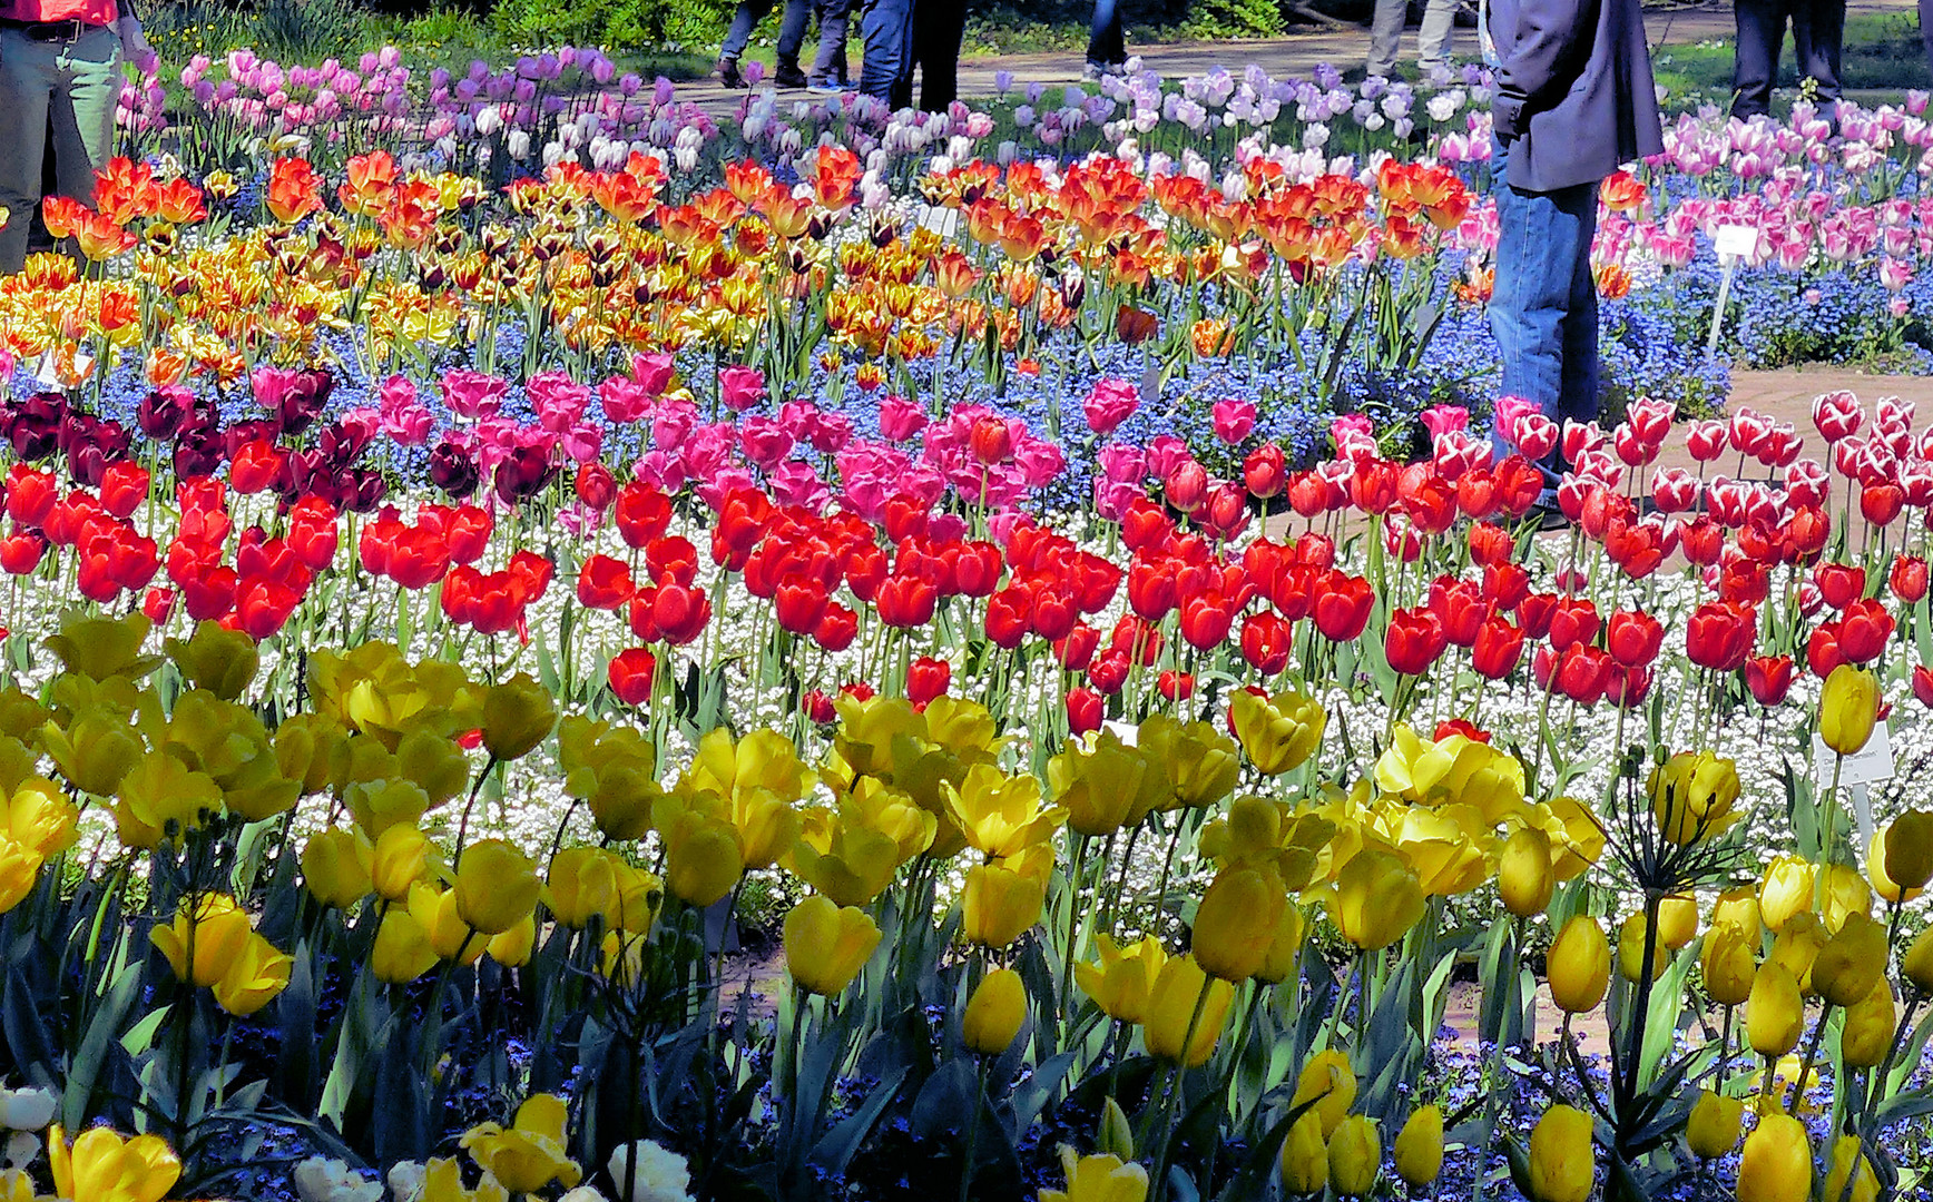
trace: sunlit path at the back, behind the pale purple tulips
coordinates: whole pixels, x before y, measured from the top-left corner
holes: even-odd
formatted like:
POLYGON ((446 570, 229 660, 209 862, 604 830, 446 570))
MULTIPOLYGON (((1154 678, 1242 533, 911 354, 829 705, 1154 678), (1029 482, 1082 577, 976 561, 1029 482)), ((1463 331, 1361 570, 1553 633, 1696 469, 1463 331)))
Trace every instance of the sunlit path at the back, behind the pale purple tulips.
MULTIPOLYGON (((1848 14, 1910 14, 1914 0, 1850 0, 1848 14)), ((1695 44, 1705 41, 1730 41, 1736 25, 1730 4, 1699 4, 1655 8, 1645 14, 1645 27, 1653 46, 1695 44)), ((1415 29, 1403 33, 1401 62, 1415 58, 1415 29)), ((1457 35, 1457 48, 1469 50, 1469 33, 1457 35)), ((1353 68, 1369 52, 1369 29, 1345 25, 1342 29, 1311 27, 1305 33, 1287 37, 1229 41, 1229 43, 1158 43, 1137 44, 1129 31, 1129 50, 1160 72, 1168 79, 1198 75, 1214 66, 1231 72, 1260 64, 1274 77, 1307 75, 1320 64, 1353 68)), ((997 54, 961 60, 959 89, 963 97, 992 97, 997 91, 997 75, 1011 72, 1019 83, 1079 83, 1082 58, 1079 52, 1061 50, 1048 54, 997 54)), ((854 50, 852 72, 858 72, 854 50)), ((727 91, 715 77, 696 79, 678 85, 678 99, 698 100, 706 112, 727 116, 738 108, 744 93, 727 91)), ((787 99, 808 99, 804 91, 787 93, 787 99)))

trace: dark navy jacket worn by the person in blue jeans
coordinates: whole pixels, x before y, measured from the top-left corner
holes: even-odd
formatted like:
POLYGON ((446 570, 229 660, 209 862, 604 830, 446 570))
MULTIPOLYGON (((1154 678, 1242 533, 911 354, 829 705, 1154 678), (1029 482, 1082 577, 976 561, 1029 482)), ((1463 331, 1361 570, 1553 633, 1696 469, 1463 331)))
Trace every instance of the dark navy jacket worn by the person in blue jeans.
POLYGON ((1490 0, 1510 184, 1595 184, 1664 149, 1639 0, 1490 0))

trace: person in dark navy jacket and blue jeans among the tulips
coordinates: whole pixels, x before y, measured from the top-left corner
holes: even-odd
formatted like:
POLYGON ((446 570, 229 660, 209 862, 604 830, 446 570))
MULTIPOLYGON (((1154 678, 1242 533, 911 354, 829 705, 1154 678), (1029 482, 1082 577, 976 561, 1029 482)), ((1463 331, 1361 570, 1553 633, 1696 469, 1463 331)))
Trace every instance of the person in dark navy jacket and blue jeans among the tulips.
POLYGON ((1639 0, 1490 0, 1496 286, 1504 396, 1597 417, 1599 184, 1664 149, 1639 0))

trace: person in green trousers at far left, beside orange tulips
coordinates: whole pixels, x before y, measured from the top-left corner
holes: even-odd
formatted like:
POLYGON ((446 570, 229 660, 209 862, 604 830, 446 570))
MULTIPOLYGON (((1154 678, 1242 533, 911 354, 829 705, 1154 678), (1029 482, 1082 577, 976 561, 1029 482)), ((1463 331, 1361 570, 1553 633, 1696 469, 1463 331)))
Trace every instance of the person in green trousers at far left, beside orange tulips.
POLYGON ((58 195, 93 203, 95 172, 114 157, 122 56, 151 54, 122 0, 0 0, 0 272, 27 263, 43 164, 58 195))

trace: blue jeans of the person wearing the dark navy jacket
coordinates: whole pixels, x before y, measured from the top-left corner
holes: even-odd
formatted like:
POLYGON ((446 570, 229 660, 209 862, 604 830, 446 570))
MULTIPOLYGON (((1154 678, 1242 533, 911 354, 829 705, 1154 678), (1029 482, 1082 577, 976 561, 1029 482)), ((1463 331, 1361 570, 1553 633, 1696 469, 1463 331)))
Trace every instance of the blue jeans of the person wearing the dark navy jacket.
POLYGON ((1504 365, 1502 396, 1521 396, 1556 423, 1597 417, 1597 184, 1519 191, 1510 153, 1496 180, 1496 286, 1490 332, 1504 365))

